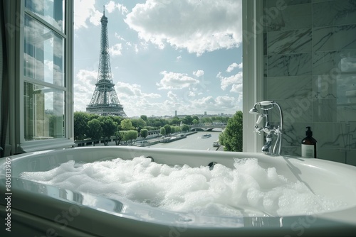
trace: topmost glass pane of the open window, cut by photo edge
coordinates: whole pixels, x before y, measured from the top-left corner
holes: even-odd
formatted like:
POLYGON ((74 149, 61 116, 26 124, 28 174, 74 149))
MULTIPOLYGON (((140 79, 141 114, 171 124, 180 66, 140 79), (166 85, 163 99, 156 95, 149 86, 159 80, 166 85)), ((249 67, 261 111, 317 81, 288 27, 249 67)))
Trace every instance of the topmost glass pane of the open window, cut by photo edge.
POLYGON ((25 7, 63 32, 65 2, 63 0, 25 0, 25 7))

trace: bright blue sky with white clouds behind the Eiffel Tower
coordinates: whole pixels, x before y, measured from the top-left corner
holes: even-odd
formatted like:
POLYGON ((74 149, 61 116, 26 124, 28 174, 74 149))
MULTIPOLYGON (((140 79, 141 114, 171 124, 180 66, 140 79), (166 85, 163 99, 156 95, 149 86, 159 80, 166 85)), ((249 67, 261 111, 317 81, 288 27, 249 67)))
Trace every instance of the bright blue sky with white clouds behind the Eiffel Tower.
POLYGON ((93 97, 104 5, 128 117, 242 110, 241 0, 74 0, 74 111, 93 97))

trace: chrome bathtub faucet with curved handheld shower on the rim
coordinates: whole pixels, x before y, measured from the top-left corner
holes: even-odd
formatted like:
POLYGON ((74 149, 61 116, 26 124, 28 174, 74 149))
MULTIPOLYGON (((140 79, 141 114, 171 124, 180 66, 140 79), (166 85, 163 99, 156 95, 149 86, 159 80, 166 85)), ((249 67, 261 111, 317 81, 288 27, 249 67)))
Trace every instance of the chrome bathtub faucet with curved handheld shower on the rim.
POLYGON ((253 132, 261 134, 261 131, 263 131, 264 133, 267 134, 266 144, 263 145, 262 152, 272 154, 272 155, 281 155, 281 145, 282 145, 282 136, 283 136, 283 115, 282 115, 281 106, 279 106, 279 104, 277 104, 275 101, 261 101, 254 104, 253 108, 249 112, 250 114, 259 114, 253 132), (258 112, 257 106, 259 106, 260 109, 263 110, 262 114, 258 112), (278 126, 271 126, 268 121, 268 110, 273 109, 274 106, 277 106, 279 109, 280 124, 278 126), (260 128, 258 124, 261 123, 263 118, 266 118, 266 123, 263 127, 260 128), (273 149, 272 149, 272 143, 273 143, 272 133, 277 136, 277 140, 276 143, 274 144, 273 149), (278 153, 276 153, 277 146, 278 146, 278 153))

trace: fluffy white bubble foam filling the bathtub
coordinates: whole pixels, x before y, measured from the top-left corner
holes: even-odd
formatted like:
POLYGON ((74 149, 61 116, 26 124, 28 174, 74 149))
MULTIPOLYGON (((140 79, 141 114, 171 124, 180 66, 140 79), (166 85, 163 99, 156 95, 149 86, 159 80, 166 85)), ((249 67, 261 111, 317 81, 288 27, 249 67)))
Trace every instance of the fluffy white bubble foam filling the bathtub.
POLYGON ((77 164, 20 177, 112 199, 125 197, 170 211, 216 216, 290 216, 336 209, 342 203, 319 197, 302 182, 289 182, 257 159, 235 160, 234 169, 169 167, 140 157, 77 164))

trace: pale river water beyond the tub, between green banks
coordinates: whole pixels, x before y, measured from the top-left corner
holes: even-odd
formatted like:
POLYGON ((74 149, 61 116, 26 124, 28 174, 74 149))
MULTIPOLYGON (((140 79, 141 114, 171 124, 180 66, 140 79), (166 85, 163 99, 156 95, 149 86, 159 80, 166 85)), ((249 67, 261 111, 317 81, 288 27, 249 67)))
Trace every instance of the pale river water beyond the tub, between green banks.
POLYGON ((150 145, 152 148, 176 148, 176 149, 189 149, 189 150, 216 150, 213 146, 214 141, 219 139, 219 131, 212 132, 197 132, 187 136, 181 140, 175 140, 171 143, 158 143, 150 145), (204 134, 211 134, 209 138, 201 138, 204 134))

